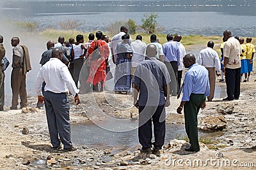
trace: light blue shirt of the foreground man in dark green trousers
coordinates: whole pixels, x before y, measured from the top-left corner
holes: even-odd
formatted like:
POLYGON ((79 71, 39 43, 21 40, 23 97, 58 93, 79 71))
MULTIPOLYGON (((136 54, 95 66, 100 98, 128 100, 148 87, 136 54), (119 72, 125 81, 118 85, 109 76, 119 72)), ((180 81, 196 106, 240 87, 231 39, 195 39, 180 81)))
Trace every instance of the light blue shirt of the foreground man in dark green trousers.
POLYGON ((183 96, 181 101, 189 101, 190 94, 210 94, 208 71, 204 66, 193 64, 184 77, 183 96))

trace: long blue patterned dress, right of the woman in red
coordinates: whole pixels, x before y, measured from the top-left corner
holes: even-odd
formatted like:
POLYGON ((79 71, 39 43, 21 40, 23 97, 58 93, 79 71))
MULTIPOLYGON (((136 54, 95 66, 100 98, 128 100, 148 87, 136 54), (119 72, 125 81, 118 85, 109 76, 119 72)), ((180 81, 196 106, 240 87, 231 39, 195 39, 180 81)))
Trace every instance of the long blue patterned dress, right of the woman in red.
POLYGON ((115 69, 115 91, 128 92, 131 89, 131 59, 127 59, 127 53, 132 53, 131 46, 124 42, 116 45, 115 52, 118 57, 116 59, 115 69))

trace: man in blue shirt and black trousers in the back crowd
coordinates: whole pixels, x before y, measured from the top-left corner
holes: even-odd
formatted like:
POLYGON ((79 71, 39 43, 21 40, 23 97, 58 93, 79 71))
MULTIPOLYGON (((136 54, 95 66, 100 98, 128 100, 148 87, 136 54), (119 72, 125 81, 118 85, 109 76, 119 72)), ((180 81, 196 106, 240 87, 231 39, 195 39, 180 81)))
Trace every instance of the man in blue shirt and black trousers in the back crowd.
POLYGON ((178 89, 177 83, 178 67, 180 64, 180 49, 179 45, 172 41, 172 34, 167 34, 166 39, 168 42, 163 44, 164 64, 166 64, 166 67, 172 79, 170 83, 170 92, 172 96, 176 96, 178 89))

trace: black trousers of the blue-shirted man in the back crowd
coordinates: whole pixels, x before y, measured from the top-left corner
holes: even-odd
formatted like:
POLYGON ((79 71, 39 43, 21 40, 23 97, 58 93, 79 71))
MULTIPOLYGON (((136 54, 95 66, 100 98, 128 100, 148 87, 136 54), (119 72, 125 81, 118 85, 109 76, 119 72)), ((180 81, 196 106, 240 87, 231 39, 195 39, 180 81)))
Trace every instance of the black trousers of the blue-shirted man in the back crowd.
POLYGON ((176 96, 177 92, 178 92, 178 85, 177 85, 177 81, 178 81, 178 62, 177 61, 170 61, 170 62, 166 62, 164 61, 165 66, 168 69, 168 73, 170 75, 171 78, 171 82, 170 82, 170 94, 172 94, 172 96, 176 96))

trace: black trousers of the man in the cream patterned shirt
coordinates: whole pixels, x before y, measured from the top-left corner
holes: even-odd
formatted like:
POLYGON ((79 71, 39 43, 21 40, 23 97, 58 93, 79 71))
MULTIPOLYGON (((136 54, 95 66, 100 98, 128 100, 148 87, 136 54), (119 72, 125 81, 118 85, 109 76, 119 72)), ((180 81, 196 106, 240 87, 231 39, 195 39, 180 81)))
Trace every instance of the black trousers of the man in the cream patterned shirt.
POLYGON ((239 98, 241 83, 241 67, 237 69, 225 69, 228 99, 239 98))

